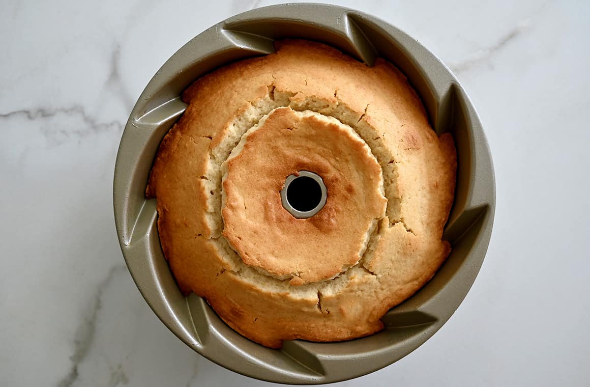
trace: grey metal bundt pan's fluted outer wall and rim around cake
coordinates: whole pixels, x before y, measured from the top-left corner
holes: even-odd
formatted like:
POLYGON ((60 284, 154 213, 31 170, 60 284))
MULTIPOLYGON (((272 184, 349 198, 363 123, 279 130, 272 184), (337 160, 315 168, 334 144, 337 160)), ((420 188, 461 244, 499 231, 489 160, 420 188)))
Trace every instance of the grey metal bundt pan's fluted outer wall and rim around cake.
POLYGON ((320 4, 254 9, 185 44, 137 100, 114 171, 121 249, 137 288, 160 320, 196 352, 225 368, 293 384, 366 375, 408 355, 440 329, 466 296, 483 262, 494 195, 491 155, 480 120, 453 73, 414 38, 381 19, 320 4), (240 336, 195 294, 181 294, 160 248, 156 200, 145 199, 145 188, 160 141, 186 108, 182 91, 219 66, 272 53, 273 41, 286 37, 332 45, 369 66, 376 57, 394 63, 417 90, 435 131, 453 134, 458 170, 455 201, 443 236, 453 251, 430 282, 382 318, 386 329, 348 342, 286 341, 277 350, 240 336))

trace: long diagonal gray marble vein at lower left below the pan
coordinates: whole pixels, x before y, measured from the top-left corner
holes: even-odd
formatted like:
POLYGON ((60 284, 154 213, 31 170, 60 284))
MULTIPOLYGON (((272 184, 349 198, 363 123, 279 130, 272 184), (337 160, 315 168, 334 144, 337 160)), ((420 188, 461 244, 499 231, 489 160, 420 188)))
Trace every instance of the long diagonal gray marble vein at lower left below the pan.
MULTIPOLYGON (((90 347, 94 341, 94 334, 96 333, 96 321, 99 311, 102 307, 101 300, 103 298, 104 291, 110 286, 113 278, 120 272, 124 271, 126 271, 126 266, 123 264, 112 266, 106 277, 100 282, 96 292, 94 292, 94 297, 92 298, 92 301, 89 305, 89 312, 86 316, 81 318, 80 324, 78 325, 76 333, 74 334, 74 351, 70 356, 72 363, 70 370, 68 374, 65 375, 59 383, 57 383, 58 387, 70 387, 78 379, 78 366, 80 366, 80 363, 86 359, 86 356, 88 355, 90 347)), ((117 370, 115 370, 115 373, 117 373, 117 370)), ((113 375, 114 373, 111 375, 112 380, 118 379, 119 381, 124 382, 124 380, 127 379, 127 376, 124 375, 122 369, 121 372, 117 373, 119 376, 113 375)))

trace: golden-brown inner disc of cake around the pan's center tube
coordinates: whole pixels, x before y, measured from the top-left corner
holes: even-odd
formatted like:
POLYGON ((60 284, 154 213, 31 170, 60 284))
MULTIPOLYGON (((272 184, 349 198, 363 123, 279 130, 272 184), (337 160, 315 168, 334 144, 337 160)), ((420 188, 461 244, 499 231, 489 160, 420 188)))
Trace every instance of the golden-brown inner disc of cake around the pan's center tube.
POLYGON ((272 110, 242 135, 221 170, 222 235, 245 264, 292 285, 356 265, 385 216, 382 171, 369 146, 350 126, 309 110, 272 110), (301 170, 321 176, 329 200, 298 217, 281 191, 301 170))

